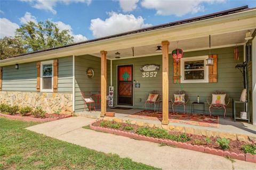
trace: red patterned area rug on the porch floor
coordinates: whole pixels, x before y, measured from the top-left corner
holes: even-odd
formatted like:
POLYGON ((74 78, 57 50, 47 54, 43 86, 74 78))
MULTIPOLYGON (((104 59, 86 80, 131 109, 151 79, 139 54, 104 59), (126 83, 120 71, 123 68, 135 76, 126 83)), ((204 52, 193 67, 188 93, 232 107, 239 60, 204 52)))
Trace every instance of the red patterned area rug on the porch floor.
MULTIPOLYGON (((156 112, 141 111, 133 115, 127 115, 126 117, 162 120, 162 112, 161 111, 156 111, 156 112)), ((219 128, 219 116, 210 117, 210 115, 203 116, 201 114, 183 114, 179 112, 169 112, 169 122, 219 128)))

